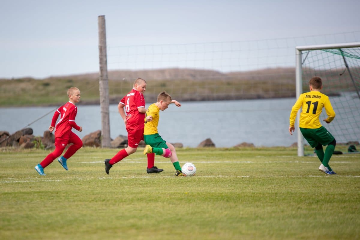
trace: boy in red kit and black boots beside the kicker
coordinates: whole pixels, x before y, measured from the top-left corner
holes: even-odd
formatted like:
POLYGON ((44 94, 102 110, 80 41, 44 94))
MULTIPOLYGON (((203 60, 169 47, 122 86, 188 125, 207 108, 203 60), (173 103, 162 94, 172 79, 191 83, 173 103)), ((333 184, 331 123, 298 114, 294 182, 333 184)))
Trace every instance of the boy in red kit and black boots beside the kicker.
MULTIPOLYGON (((109 174, 110 168, 112 168, 115 163, 120 162, 123 158, 135 153, 140 141, 144 139, 144 119, 146 109, 143 93, 146 90, 146 85, 147 82, 144 79, 137 78, 133 85, 134 88, 120 100, 117 106, 120 116, 124 120, 126 126, 128 144, 127 148, 119 151, 111 159, 105 159, 105 172, 107 174, 109 174)), ((147 157, 147 173, 158 173, 163 171, 163 169, 154 166, 155 154, 148 154, 147 157)))

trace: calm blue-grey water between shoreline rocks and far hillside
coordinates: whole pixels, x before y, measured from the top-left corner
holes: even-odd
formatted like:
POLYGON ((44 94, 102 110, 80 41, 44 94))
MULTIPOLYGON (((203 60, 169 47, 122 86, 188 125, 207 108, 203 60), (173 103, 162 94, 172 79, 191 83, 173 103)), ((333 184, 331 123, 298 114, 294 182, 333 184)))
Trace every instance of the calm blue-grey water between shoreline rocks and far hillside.
MULTIPOLYGON (((198 101, 182 102, 180 108, 171 104, 160 112, 158 130, 164 140, 181 142, 184 147, 191 148, 207 138, 217 147, 231 147, 242 142, 255 146, 290 146, 297 141, 297 132, 293 136, 288 132, 289 114, 295 101, 295 98, 198 101)), ((0 131, 12 134, 24 127, 31 127, 35 136, 42 136, 50 126, 55 109, 0 108, 0 131)), ((117 105, 110 105, 109 110, 111 138, 126 135, 117 105)), ((82 132, 73 130, 80 138, 101 130, 100 106, 79 105, 76 123, 83 127, 82 132)), ((354 131, 360 136, 359 128, 354 131)), ((333 135, 336 136, 335 133, 333 135)))

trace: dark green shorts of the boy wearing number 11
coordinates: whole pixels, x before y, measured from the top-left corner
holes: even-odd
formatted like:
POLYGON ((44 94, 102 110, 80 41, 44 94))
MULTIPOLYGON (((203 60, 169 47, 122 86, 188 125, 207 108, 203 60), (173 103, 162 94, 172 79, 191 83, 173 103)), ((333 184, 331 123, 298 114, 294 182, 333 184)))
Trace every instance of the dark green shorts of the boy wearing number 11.
POLYGON ((334 140, 333 135, 326 130, 325 127, 321 126, 319 128, 300 128, 302 136, 309 142, 312 148, 315 148, 319 143, 323 146, 328 145, 334 140))

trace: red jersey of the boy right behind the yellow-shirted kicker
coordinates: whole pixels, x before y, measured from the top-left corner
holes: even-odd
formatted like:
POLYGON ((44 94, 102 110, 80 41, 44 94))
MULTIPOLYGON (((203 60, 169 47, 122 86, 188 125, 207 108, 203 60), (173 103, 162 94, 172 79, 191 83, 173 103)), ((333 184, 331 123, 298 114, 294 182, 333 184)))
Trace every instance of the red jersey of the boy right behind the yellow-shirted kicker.
POLYGON ((120 100, 120 103, 125 106, 126 128, 144 129, 145 113, 140 113, 138 110, 138 108, 145 108, 144 95, 136 89, 132 89, 120 100))

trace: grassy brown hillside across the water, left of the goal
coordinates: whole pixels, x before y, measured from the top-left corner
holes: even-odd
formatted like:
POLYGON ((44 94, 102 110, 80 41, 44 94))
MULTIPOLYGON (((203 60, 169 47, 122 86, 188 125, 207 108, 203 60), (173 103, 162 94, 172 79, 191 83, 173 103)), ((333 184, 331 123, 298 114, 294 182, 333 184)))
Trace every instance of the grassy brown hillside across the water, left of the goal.
MULTIPOLYGON (((156 101, 158 93, 164 90, 181 101, 295 96, 294 68, 230 73, 174 68, 109 71, 110 103, 118 103, 138 77, 148 82, 144 94, 148 102, 156 101)), ((1 79, 0 107, 59 105, 66 101, 66 91, 72 86, 80 89, 81 104, 99 103, 99 73, 86 73, 44 79, 1 79)))

